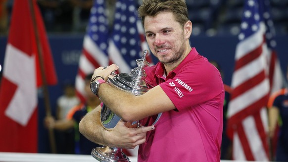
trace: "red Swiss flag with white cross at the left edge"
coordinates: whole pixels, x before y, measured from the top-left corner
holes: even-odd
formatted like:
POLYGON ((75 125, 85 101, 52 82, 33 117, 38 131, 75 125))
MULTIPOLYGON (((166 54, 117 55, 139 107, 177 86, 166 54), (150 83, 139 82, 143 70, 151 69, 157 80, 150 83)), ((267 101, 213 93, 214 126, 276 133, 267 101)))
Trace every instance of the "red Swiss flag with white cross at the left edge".
POLYGON ((36 0, 14 0, 0 85, 0 152, 37 152, 37 88, 57 83, 36 0), (34 20, 35 21, 34 21, 34 20))

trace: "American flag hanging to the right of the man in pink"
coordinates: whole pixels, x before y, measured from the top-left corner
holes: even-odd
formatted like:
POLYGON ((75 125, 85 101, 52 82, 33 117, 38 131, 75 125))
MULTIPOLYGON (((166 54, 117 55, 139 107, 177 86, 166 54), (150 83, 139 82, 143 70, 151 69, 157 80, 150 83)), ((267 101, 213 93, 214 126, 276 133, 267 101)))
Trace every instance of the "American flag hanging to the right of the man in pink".
POLYGON ((233 159, 269 161, 266 105, 283 86, 269 0, 245 0, 228 106, 233 159))

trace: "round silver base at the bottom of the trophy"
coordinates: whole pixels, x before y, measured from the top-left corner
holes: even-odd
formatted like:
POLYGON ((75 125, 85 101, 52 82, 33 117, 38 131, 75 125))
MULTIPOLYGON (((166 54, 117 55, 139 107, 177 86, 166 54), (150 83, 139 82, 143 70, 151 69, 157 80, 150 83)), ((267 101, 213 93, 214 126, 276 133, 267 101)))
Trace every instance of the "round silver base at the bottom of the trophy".
POLYGON ((131 162, 121 148, 97 147, 92 150, 91 155, 99 162, 131 162))

